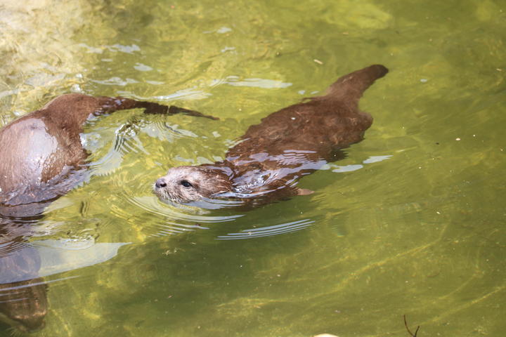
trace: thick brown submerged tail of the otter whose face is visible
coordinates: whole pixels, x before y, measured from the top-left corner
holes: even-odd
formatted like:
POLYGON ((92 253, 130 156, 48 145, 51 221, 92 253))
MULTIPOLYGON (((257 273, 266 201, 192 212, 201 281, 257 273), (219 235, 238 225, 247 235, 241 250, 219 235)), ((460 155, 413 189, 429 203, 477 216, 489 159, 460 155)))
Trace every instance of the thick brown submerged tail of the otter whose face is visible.
POLYGON ((377 79, 384 77, 389 70, 383 65, 369 67, 347 74, 330 86, 324 99, 339 99, 347 103, 358 103, 363 92, 377 79))

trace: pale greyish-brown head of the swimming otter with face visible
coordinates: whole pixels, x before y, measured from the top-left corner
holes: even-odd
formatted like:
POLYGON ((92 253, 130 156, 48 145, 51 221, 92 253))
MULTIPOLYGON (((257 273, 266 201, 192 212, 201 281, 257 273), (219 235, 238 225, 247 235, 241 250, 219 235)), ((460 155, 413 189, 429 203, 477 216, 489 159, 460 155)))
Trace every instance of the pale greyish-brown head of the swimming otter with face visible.
POLYGON ((217 169, 179 166, 169 169, 165 176, 157 179, 153 191, 162 201, 186 203, 231 192, 232 183, 225 173, 217 169))

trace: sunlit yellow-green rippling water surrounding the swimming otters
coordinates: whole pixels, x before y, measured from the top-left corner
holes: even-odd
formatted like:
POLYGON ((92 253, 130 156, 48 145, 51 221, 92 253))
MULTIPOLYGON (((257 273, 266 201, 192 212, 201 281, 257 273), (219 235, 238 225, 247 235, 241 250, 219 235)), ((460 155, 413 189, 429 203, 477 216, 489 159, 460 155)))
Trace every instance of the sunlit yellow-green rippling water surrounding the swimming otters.
POLYGON ((491 0, 4 1, 2 125, 72 91, 221 119, 86 127, 91 178, 36 226, 71 244, 41 249, 61 270, 32 336, 408 336, 403 315, 418 337, 503 336, 505 37, 491 0), (301 180, 314 194, 245 212, 150 192, 373 63, 391 70, 361 101, 375 121, 301 180))

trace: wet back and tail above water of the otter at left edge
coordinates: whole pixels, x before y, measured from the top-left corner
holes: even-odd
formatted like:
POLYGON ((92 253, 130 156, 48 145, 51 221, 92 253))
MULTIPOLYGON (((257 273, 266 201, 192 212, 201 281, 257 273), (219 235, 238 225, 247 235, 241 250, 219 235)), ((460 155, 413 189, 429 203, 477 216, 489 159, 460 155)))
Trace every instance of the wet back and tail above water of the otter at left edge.
POLYGON ((87 157, 79 136, 86 119, 134 108, 144 108, 147 114, 209 117, 129 98, 62 95, 0 129, 0 205, 29 204, 68 192, 72 185, 62 181, 87 157))

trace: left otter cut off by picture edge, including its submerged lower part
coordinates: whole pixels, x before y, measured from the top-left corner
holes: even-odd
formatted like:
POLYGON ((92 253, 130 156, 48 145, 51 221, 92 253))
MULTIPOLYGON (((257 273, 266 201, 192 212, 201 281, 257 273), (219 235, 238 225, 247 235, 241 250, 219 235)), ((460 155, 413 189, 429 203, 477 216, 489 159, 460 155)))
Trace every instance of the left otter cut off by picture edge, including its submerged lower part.
POLYGON ((0 321, 20 331, 44 326, 48 311, 40 257, 30 246, 30 225, 51 201, 84 177, 88 153, 80 133, 91 116, 143 108, 145 114, 183 113, 180 107, 132 100, 61 95, 0 129, 0 321))

